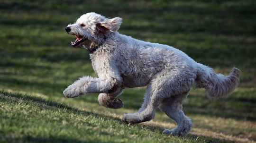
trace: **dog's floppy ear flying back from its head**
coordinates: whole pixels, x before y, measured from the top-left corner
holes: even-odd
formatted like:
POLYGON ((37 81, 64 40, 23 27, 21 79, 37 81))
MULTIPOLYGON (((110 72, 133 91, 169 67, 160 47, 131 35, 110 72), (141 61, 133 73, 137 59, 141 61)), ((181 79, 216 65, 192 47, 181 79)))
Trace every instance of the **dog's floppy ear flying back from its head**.
POLYGON ((115 17, 111 19, 106 19, 105 21, 98 24, 98 29, 103 32, 105 30, 110 30, 111 32, 118 31, 120 28, 120 25, 122 23, 122 18, 115 17))

